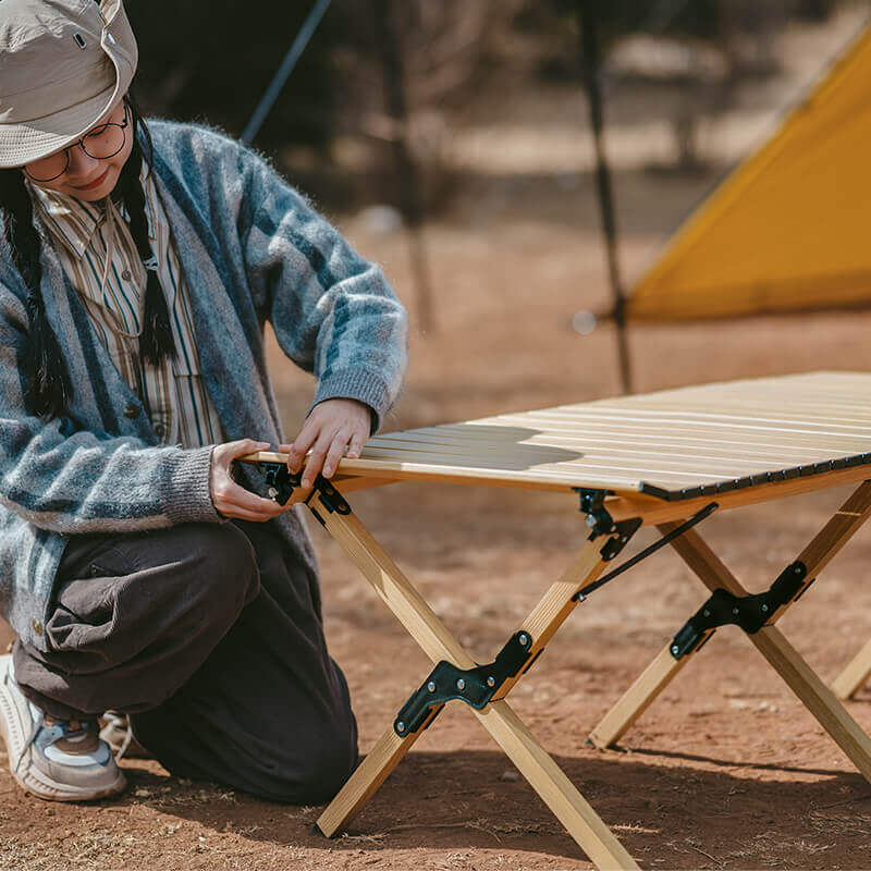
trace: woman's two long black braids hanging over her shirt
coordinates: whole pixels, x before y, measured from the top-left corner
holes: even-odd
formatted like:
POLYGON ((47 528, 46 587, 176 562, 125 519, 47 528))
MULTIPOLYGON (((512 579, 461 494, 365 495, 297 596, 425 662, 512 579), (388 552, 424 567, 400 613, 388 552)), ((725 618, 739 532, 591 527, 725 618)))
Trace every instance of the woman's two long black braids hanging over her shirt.
MULTIPOLYGON (((131 235, 146 267, 145 318, 139 335, 139 353, 146 360, 157 365, 164 356, 175 356, 175 345, 167 299, 152 260, 145 192, 139 181, 143 161, 149 168, 152 162, 151 135, 131 94, 124 97, 124 102, 131 115, 133 149, 121 170, 115 191, 123 197, 131 235)), ((61 417, 69 407, 73 384, 58 339, 46 317, 39 289, 42 278, 39 259, 41 246, 51 243, 40 222, 34 219, 33 201, 20 169, 0 170, 0 214, 12 260, 27 286, 29 342, 24 361, 27 369, 27 406, 32 414, 39 417, 61 417)))

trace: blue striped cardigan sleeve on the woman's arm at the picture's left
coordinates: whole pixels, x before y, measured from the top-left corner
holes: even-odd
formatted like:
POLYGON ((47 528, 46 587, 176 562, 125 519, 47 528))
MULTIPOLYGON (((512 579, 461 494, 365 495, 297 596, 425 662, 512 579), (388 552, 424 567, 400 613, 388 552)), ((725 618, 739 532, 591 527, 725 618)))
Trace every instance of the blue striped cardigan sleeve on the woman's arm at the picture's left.
POLYGON ((61 533, 220 523, 209 489, 210 446, 154 447, 28 412, 26 317, 19 297, 0 284, 0 503, 61 533))

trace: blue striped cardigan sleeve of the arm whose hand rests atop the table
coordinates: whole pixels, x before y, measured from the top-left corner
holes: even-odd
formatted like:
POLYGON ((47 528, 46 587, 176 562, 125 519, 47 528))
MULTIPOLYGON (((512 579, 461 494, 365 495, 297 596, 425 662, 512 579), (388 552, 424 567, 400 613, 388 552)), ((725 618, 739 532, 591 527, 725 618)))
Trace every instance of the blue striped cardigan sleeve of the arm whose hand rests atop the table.
POLYGON ((287 357, 317 377, 311 407, 359 400, 375 432, 402 388, 405 309, 381 270, 260 158, 241 149, 240 160, 249 204, 240 231, 258 314, 287 357))

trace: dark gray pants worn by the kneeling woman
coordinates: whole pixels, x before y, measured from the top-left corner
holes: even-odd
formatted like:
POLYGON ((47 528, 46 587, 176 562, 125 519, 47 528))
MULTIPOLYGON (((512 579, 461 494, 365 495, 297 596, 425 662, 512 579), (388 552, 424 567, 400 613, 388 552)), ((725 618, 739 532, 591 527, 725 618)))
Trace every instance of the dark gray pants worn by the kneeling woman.
POLYGON ((329 800, 357 761, 317 578, 269 524, 73 536, 49 652, 15 676, 61 719, 118 710, 173 774, 293 803, 329 800))

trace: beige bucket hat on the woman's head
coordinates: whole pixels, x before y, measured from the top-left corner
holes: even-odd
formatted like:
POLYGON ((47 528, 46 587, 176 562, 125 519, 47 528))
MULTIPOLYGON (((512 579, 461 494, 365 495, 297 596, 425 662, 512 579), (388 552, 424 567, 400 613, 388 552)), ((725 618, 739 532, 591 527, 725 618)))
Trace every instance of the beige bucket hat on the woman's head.
POLYGON ((0 168, 84 136, 124 96, 137 60, 122 0, 0 0, 0 168))

